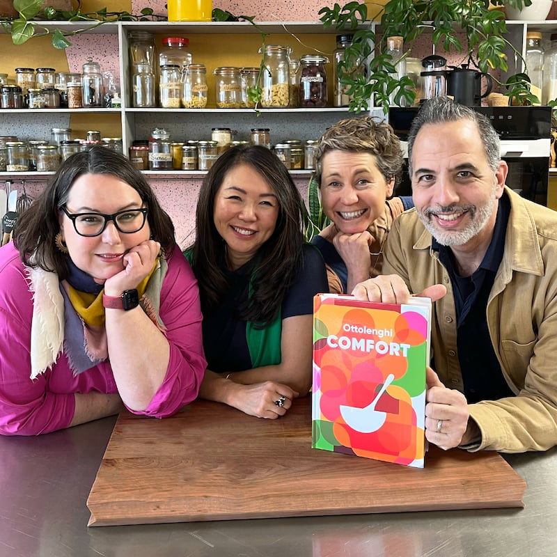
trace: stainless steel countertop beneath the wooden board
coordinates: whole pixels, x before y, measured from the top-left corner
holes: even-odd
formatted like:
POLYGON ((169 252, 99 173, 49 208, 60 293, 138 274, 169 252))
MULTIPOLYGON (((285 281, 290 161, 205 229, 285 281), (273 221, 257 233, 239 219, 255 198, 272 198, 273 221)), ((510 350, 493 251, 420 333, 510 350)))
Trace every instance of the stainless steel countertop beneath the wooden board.
POLYGON ((557 449, 505 455, 528 483, 524 509, 88 528, 115 421, 0 437, 1 557, 557 556, 557 449))

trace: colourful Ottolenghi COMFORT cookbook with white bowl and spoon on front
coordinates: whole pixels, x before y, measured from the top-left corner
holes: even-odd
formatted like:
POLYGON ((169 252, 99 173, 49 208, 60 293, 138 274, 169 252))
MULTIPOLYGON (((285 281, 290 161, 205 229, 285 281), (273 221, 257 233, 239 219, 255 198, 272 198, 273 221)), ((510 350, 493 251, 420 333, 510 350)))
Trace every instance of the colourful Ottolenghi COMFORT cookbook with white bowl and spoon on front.
POLYGON ((431 307, 314 297, 313 448, 423 468, 431 307))

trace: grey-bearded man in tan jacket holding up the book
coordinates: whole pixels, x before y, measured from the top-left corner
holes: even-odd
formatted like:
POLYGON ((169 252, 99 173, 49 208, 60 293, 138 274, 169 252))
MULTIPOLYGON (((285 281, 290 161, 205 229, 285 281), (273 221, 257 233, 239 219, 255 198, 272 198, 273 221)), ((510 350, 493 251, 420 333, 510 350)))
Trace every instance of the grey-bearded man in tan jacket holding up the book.
POLYGON ((489 120, 437 97, 408 137, 415 208, 359 299, 435 301, 425 437, 520 453, 557 444, 557 213, 505 186, 489 120))

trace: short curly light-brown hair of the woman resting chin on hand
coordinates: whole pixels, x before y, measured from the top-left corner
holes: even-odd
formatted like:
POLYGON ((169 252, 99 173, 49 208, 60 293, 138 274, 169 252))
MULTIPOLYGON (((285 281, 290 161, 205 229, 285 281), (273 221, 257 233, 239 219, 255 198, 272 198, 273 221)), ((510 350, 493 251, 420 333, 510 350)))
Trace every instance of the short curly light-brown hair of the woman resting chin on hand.
POLYGON ((377 168, 386 182, 395 178, 400 182, 402 172, 402 151, 400 140, 391 125, 377 122, 370 116, 356 116, 340 120, 327 130, 313 149, 315 157, 315 180, 321 185, 322 159, 327 152, 369 152, 375 155, 377 168))

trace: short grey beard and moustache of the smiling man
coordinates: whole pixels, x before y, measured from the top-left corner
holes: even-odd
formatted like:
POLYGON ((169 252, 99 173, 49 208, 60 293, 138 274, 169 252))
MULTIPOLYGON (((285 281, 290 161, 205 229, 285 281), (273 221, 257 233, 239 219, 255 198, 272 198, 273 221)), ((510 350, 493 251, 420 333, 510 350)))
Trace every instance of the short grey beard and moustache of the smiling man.
POLYGON ((423 211, 418 211, 418 217, 429 232, 441 246, 463 246, 469 242, 473 237, 480 233, 489 217, 495 210, 495 189, 494 183, 492 195, 487 201, 486 205, 448 205, 448 207, 428 207, 423 211), (470 223, 464 230, 442 230, 434 224, 430 215, 436 213, 450 214, 469 212, 470 223))

